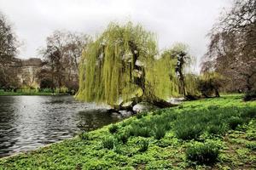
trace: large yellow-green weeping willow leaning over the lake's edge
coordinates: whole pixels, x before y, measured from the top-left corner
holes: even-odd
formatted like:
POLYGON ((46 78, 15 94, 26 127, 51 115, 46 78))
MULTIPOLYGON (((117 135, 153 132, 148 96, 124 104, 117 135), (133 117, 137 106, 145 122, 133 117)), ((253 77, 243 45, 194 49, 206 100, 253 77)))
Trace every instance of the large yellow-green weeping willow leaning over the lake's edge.
POLYGON ((156 59, 157 54, 154 33, 131 22, 124 26, 111 23, 84 50, 76 98, 107 103, 116 110, 141 101, 172 106, 165 99, 177 94, 176 83, 170 82, 170 75, 175 77, 174 62, 156 59))

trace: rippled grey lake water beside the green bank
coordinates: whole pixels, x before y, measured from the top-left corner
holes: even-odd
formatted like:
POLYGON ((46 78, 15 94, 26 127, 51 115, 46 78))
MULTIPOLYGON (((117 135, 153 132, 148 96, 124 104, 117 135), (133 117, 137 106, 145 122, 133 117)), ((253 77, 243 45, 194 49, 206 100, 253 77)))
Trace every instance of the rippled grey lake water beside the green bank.
POLYGON ((72 96, 0 96, 0 157, 96 129, 118 117, 72 96))

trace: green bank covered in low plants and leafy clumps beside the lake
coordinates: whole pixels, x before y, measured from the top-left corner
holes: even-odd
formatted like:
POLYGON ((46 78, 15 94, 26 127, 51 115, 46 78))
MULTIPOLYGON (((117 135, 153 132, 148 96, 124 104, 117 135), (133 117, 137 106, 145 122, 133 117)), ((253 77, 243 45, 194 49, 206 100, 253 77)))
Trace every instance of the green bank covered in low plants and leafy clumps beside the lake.
POLYGON ((256 102, 241 95, 142 113, 0 159, 0 169, 253 169, 256 102))

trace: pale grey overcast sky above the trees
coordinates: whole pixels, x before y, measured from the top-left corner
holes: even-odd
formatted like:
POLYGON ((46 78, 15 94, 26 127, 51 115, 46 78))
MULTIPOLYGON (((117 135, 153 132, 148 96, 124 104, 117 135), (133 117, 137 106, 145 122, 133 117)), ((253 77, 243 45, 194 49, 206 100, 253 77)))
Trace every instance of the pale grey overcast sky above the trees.
POLYGON ((38 48, 55 30, 101 33, 110 21, 142 23, 158 36, 160 49, 189 44, 198 63, 207 33, 231 0, 0 0, 0 11, 14 25, 20 58, 40 57, 38 48))

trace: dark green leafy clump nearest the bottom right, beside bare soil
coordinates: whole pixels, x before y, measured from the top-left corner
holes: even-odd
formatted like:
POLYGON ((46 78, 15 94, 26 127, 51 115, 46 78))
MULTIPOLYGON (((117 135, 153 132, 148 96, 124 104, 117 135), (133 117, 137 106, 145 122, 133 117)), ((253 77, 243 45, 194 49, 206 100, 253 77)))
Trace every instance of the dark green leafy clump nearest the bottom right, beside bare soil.
POLYGON ((185 151, 186 158, 189 161, 195 161, 197 164, 211 165, 218 160, 219 149, 214 143, 195 143, 190 145, 185 151))

